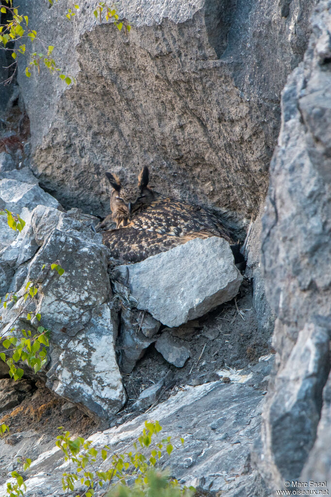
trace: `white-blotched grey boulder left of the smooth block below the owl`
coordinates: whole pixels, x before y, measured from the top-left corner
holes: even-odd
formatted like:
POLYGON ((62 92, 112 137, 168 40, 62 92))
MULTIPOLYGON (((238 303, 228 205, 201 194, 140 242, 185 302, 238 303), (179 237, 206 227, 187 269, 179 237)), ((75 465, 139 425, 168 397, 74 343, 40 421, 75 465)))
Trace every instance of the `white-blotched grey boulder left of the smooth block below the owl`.
MULTIPOLYGON (((46 385, 57 394, 88 414, 109 420, 125 403, 126 394, 116 362, 118 312, 109 305, 108 252, 101 235, 44 205, 32 211, 26 228, 38 251, 17 295, 23 295, 27 281, 39 283, 37 300, 25 312, 39 313, 40 324, 51 330, 49 361, 41 374, 46 372, 46 385), (62 276, 48 269, 57 260, 65 269, 62 276)), ((1 310, 2 333, 12 327, 23 305, 21 298, 1 310)), ((30 325, 25 317, 24 313, 16 322, 17 329, 39 325, 35 318, 30 325)))

